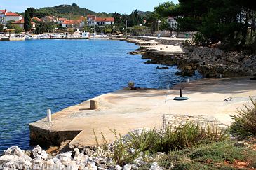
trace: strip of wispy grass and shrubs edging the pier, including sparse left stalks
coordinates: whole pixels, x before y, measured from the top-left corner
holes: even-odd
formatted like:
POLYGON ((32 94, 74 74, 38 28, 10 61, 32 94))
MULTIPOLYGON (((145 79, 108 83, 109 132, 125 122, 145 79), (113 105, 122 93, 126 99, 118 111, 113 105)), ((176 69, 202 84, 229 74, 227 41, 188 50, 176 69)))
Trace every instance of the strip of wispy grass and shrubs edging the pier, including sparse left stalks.
MULTIPOLYGON (((117 134, 115 136, 112 152, 109 152, 107 141, 102 134, 102 148, 109 153, 108 157, 121 166, 132 164, 140 153, 149 155, 156 153, 170 153, 184 148, 205 146, 211 143, 225 141, 228 138, 227 129, 220 129, 217 125, 198 125, 196 122, 186 122, 177 127, 165 129, 142 129, 140 132, 130 132, 126 136, 117 134)), ((99 140, 95 135, 97 145, 99 140)))

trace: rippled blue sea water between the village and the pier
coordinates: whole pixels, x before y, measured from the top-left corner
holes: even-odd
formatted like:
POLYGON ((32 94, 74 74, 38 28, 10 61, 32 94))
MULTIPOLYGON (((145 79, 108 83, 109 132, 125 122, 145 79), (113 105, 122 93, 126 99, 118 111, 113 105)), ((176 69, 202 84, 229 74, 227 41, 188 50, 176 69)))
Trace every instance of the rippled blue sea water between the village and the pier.
MULTIPOLYGON (((124 41, 0 41, 0 152, 29 149, 28 123, 92 97, 126 87, 165 88, 184 81, 175 67, 156 69, 124 41)), ((201 78, 195 76, 194 78, 201 78)))

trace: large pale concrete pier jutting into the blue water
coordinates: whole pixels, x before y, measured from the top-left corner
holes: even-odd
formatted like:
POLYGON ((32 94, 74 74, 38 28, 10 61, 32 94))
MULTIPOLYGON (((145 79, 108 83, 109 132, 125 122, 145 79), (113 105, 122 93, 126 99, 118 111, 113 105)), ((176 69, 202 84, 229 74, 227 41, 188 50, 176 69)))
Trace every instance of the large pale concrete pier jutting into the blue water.
POLYGON ((93 130, 99 140, 102 132, 107 141, 113 141, 109 129, 123 135, 136 128, 160 128, 164 114, 207 115, 229 125, 236 108, 250 101, 249 96, 256 96, 256 83, 249 78, 210 78, 185 83, 182 91, 189 97, 187 101, 173 100, 179 89, 177 85, 170 90, 118 90, 91 99, 99 101, 97 110, 90 109, 90 100, 84 101, 53 114, 52 122, 44 118, 29 124, 32 143, 59 145, 70 139, 70 146, 93 146, 93 130), (225 101, 230 97, 232 101, 225 101))

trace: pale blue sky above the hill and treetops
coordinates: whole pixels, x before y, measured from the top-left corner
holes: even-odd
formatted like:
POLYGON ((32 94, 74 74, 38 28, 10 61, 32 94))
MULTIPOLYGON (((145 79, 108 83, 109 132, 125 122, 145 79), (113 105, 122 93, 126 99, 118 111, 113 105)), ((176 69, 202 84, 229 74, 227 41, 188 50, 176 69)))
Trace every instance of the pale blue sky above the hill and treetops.
MULTIPOLYGON (((88 8, 95 12, 114 13, 116 11, 118 13, 131 13, 135 9, 152 11, 154 6, 165 1, 167 0, 0 0, 0 9, 23 12, 28 7, 42 8, 76 3, 80 7, 88 8)), ((173 0, 173 3, 177 3, 177 1, 173 0)))

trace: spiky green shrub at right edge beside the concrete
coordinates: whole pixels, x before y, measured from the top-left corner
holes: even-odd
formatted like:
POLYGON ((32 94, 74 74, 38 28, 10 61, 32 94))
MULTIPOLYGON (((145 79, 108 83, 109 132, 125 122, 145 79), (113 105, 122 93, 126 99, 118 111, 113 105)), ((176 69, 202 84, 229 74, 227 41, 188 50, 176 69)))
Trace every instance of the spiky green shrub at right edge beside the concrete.
POLYGON ((231 134, 246 138, 256 136, 256 100, 252 99, 252 105, 244 104, 244 108, 237 111, 238 115, 232 116, 231 134))

